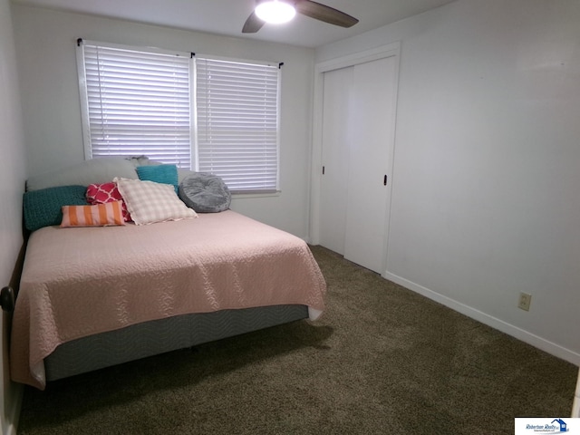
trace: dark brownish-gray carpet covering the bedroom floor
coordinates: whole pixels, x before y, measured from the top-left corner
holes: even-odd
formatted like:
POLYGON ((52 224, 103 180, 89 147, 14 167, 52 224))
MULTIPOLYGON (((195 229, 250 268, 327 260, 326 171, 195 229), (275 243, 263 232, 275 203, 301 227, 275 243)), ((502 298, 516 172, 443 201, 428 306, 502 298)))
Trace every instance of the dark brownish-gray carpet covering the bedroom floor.
POLYGON ((324 318, 26 388, 26 434, 512 434, 577 369, 313 247, 324 318))

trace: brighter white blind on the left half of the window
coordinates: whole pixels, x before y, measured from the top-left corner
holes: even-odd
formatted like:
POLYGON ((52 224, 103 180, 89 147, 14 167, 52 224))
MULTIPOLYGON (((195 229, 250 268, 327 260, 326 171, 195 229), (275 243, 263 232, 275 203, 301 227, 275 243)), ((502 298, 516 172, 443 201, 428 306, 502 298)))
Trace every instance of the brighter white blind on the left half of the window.
POLYGON ((87 159, 146 155, 191 168, 190 59, 80 43, 87 159))

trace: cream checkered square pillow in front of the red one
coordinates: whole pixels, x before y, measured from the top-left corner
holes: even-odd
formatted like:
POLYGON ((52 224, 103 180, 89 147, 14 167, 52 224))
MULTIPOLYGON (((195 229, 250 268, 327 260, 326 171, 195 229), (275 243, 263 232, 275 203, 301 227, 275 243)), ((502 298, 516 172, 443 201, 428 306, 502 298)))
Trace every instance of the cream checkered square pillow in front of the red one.
POLYGON ((113 181, 117 183, 131 218, 137 225, 198 217, 178 198, 169 184, 140 179, 116 178, 113 181))

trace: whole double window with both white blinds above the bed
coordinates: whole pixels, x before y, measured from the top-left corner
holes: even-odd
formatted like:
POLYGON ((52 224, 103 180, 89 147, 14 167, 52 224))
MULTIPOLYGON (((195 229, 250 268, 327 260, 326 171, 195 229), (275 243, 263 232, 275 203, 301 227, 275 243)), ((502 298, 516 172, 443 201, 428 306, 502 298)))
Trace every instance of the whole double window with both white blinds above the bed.
POLYGON ((146 155, 278 189, 278 64, 79 41, 85 156, 146 155))

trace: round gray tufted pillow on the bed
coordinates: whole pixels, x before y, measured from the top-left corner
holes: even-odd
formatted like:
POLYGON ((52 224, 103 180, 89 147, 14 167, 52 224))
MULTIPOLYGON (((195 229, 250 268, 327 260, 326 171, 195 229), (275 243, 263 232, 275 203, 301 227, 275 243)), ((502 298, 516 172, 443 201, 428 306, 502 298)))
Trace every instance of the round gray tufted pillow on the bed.
POLYGON ((198 213, 227 210, 232 199, 224 180, 205 172, 186 176, 179 183, 179 198, 198 213))

